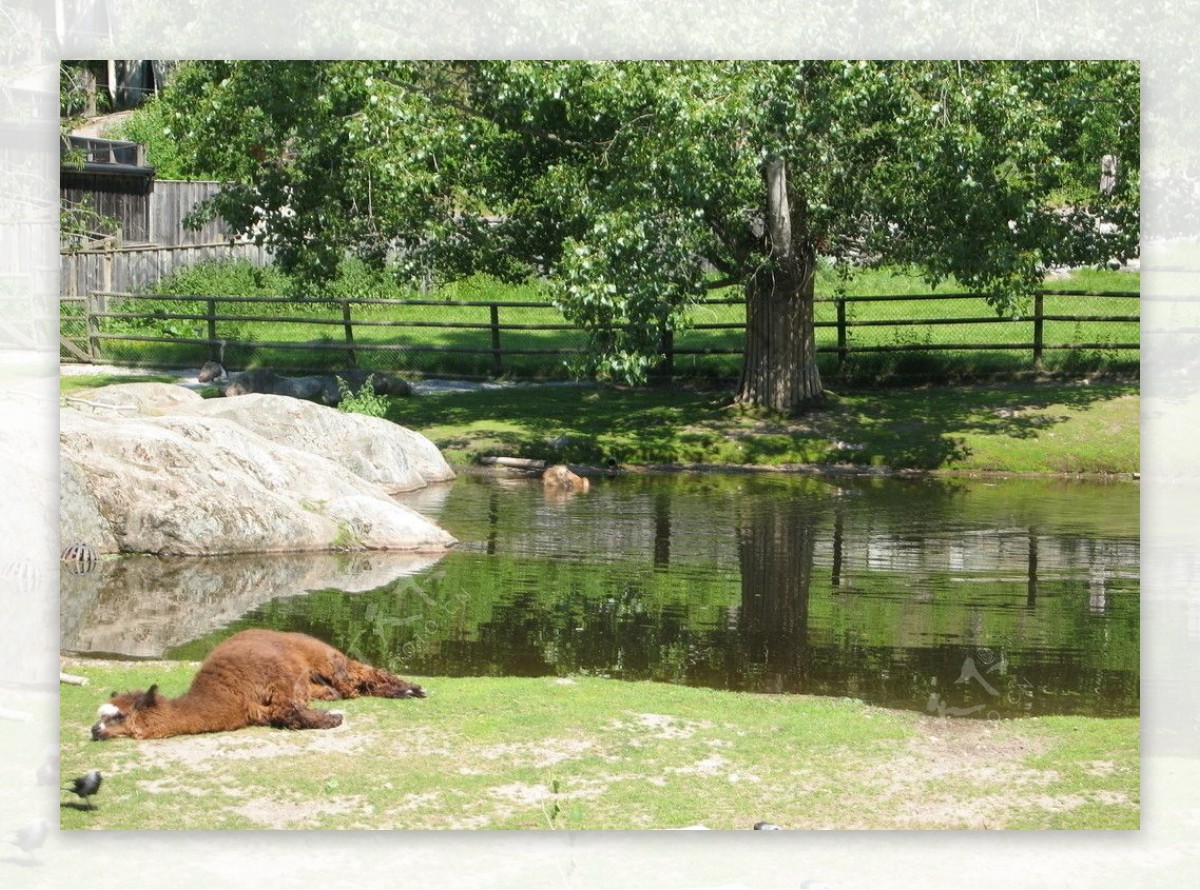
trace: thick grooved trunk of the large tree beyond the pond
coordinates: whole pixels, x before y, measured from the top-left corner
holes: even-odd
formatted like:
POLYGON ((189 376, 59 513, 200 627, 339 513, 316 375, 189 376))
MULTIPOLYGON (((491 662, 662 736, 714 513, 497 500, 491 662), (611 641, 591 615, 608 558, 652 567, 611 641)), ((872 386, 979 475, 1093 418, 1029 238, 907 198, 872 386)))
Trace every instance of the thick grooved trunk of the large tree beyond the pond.
POLYGON ((816 251, 804 221, 793 218, 786 162, 769 160, 763 175, 772 265, 746 284, 746 342, 737 401, 796 411, 822 399, 812 327, 816 251))

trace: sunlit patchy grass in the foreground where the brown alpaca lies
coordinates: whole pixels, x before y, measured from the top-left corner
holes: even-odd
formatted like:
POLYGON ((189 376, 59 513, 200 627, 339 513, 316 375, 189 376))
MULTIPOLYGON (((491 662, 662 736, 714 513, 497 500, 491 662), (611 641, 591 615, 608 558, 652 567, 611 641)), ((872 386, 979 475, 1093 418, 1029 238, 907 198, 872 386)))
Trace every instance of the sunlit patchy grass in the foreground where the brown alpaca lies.
MULTIPOLYGON (((196 665, 78 661, 61 770, 104 775, 71 829, 1136 829, 1139 721, 926 716, 844 698, 598 678, 413 678, 337 729, 94 742, 113 688, 196 665)), ((320 705, 328 706, 328 705, 320 705)))

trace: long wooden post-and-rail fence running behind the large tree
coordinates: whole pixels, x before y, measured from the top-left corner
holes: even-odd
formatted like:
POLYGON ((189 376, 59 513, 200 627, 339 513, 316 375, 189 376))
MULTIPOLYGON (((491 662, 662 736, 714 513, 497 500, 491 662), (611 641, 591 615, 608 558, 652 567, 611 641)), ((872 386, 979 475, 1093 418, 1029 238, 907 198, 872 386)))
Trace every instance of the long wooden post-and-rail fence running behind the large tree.
MULTIPOLYGON (((1054 350, 1128 350, 1136 361, 1140 315, 1114 311, 1114 302, 1138 297, 1129 291, 1042 291, 1032 312, 1015 319, 979 314, 983 297, 976 294, 820 299, 817 353, 835 356, 834 373, 841 373, 858 354, 1025 351, 1030 365, 1038 367, 1054 350), (1092 311, 1064 312, 1062 305, 1068 300, 1092 311), (1046 311, 1048 302, 1055 305, 1054 311, 1046 311), (906 317, 870 314, 877 307, 901 303, 906 317), (955 308, 962 314, 955 315, 955 308), (935 338, 936 331, 952 326, 952 338, 935 338), (1106 332, 1087 336, 1085 327, 1106 332), (924 339, 914 333, 920 329, 924 339), (989 333, 972 339, 967 333, 973 330, 989 333)), ((676 373, 677 357, 695 362, 706 356, 740 355, 744 331, 742 300, 704 301, 694 309, 694 323, 664 333, 664 371, 676 373), (720 320, 712 320, 715 317, 720 320)), ((449 368, 437 356, 478 356, 468 371, 479 377, 528 374, 532 365, 514 359, 560 360, 582 356, 586 347, 583 333, 552 305, 534 301, 354 297, 298 303, 287 297, 92 290, 64 297, 61 332, 64 361, 162 366, 216 359, 236 367, 265 360, 280 369, 308 371, 328 366, 330 354, 340 353, 352 367, 385 365, 416 373, 463 373, 462 367, 449 368), (312 338, 318 330, 320 336, 312 338)), ((545 368, 542 362, 541 369, 532 373, 545 374, 545 368)))

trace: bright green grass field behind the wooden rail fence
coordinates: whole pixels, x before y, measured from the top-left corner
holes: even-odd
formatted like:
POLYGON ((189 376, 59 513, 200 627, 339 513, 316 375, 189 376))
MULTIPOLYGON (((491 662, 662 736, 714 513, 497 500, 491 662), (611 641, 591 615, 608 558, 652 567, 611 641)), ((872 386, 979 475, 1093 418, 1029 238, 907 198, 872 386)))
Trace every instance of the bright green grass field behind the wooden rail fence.
MULTIPOLYGON (((1069 279, 1048 282, 1048 287, 1138 291, 1140 279, 1136 272, 1080 271, 1069 279)), ((174 278, 162 282, 157 291, 175 295, 269 296, 284 294, 288 289, 288 279, 281 273, 257 270, 242 263, 202 264, 184 270, 174 278)), ((817 279, 818 302, 815 309, 817 347, 824 350, 820 356, 822 374, 828 379, 860 385, 889 380, 968 380, 985 375, 1010 375, 1032 367, 1032 353, 1028 349, 985 348, 1031 343, 1032 321, 996 323, 995 311, 979 297, 936 301, 916 299, 930 290, 919 276, 905 270, 864 270, 848 284, 841 282, 835 272, 822 270, 817 279), (852 351, 847 362, 839 365, 836 354, 829 351, 836 348, 836 329, 830 326, 836 319, 836 307, 827 297, 840 293, 842 287, 848 297, 911 295, 914 299, 848 303, 847 318, 858 326, 850 329, 848 345, 852 351), (985 319, 988 323, 893 324, 906 319, 985 319), (940 349, 944 345, 961 348, 940 349), (877 347, 900 348, 900 351, 869 351, 877 347), (854 353, 854 349, 868 351, 854 353)), ((941 284, 935 293, 953 296, 962 293, 962 288, 952 281, 941 284)), ((550 289, 541 282, 504 284, 486 276, 475 276, 445 284, 431 294, 420 294, 364 267, 347 264, 341 277, 323 290, 322 296, 329 300, 432 300, 432 305, 421 306, 355 305, 353 314, 356 345, 419 347, 428 350, 360 349, 358 361, 364 367, 424 375, 494 375, 488 301, 541 303, 499 309, 502 325, 518 326, 516 330, 504 330, 500 336, 502 348, 505 350, 499 368, 503 375, 564 378, 572 354, 584 349, 587 343, 584 333, 566 325, 558 309, 550 303, 550 289), (472 305, 457 305, 463 302, 472 305), (420 323, 420 326, 390 326, 392 323, 420 323), (529 326, 535 330, 529 330, 529 326), (545 326, 551 326, 552 330, 545 330, 545 326), (538 327, 542 330, 536 330, 538 327), (558 351, 529 355, 523 350, 558 351)), ((733 302, 694 307, 688 313, 690 326, 674 336, 677 349, 694 353, 676 356, 674 371, 680 377, 728 379, 738 373, 739 356, 713 354, 712 350, 740 348, 745 321, 740 290, 728 288, 714 293, 714 296, 732 299, 733 302), (703 325, 730 327, 714 330, 703 325)), ((340 303, 329 300, 283 305, 220 303, 220 313, 241 319, 224 320, 217 325, 217 336, 230 341, 226 350, 226 365, 232 368, 272 366, 294 369, 344 365, 347 353, 340 348, 344 343, 342 309, 340 303), (296 318, 316 323, 299 321, 296 318), (250 345, 238 345, 239 341, 248 342, 250 345), (282 345, 271 345, 272 343, 282 345)), ((114 302, 113 308, 151 314, 199 315, 206 311, 206 301, 180 303, 144 297, 127 301, 127 305, 114 302)), ((77 309, 78 307, 68 306, 64 312, 77 309)), ((1138 305, 1129 299, 1064 295, 1046 297, 1045 312, 1058 315, 1136 315, 1138 305)), ((1025 307, 1025 313, 1028 314, 1028 307, 1025 307)), ((179 342, 208 337, 206 323, 198 317, 112 319, 106 323, 106 329, 168 338, 166 342, 103 341, 106 361, 182 365, 199 363, 208 357, 204 344, 179 342)), ((1091 345, 1073 350, 1048 349, 1043 356, 1043 369, 1062 373, 1133 371, 1138 365, 1138 350, 1118 349, 1117 344, 1136 343, 1139 330, 1136 321, 1046 321, 1046 344, 1091 345)), ((82 318, 65 314, 64 333, 82 337, 82 318)))

